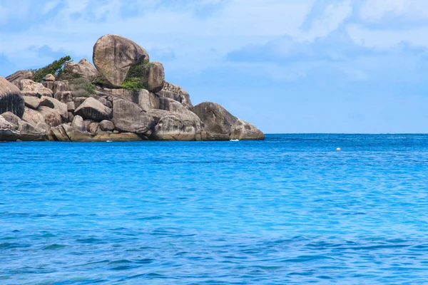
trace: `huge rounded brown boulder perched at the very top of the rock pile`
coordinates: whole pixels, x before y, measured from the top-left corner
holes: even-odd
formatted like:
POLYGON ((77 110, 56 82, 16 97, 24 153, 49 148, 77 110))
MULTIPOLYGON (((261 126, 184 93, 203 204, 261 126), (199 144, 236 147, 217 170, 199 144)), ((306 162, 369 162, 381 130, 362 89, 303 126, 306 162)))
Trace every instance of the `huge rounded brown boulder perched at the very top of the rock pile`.
POLYGON ((120 87, 131 66, 149 61, 137 43, 117 35, 105 35, 93 46, 93 64, 113 87, 120 87))

